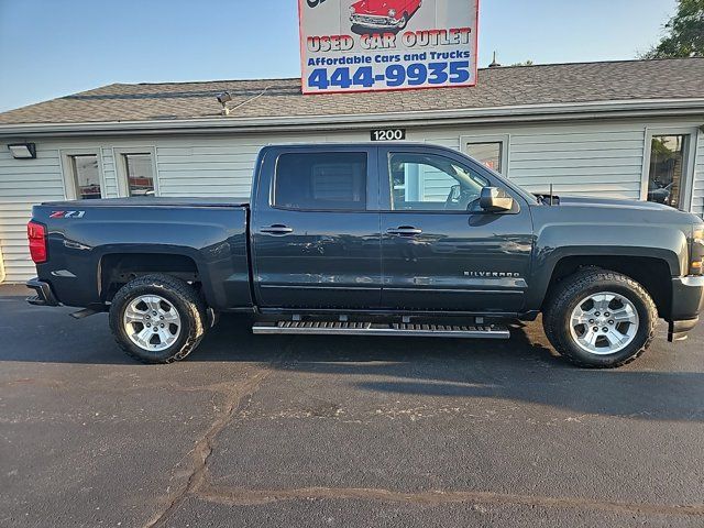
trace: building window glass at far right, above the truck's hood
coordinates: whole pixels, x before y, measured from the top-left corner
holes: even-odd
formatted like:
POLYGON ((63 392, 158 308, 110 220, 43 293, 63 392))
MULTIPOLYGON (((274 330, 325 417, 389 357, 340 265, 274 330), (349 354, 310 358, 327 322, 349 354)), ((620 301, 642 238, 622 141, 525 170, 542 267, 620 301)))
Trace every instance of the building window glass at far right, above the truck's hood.
POLYGON ((650 142, 648 201, 679 208, 689 134, 653 135, 650 142))

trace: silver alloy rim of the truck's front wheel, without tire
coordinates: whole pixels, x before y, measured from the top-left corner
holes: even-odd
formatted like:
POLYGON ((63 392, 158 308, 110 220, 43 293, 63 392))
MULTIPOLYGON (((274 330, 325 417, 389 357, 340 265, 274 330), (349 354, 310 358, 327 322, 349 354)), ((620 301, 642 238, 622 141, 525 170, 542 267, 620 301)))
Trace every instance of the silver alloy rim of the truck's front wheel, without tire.
POLYGON ((600 292, 582 299, 570 315, 574 342, 592 354, 614 354, 638 332, 638 310, 626 297, 600 292))

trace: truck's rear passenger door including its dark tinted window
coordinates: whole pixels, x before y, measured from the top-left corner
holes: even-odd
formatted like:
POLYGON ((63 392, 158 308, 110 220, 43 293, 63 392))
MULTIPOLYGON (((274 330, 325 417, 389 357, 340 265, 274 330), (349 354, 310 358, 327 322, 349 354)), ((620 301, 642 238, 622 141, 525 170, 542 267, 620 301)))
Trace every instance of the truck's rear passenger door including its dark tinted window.
POLYGON ((262 160, 252 255, 264 308, 377 308, 376 150, 292 146, 262 160))

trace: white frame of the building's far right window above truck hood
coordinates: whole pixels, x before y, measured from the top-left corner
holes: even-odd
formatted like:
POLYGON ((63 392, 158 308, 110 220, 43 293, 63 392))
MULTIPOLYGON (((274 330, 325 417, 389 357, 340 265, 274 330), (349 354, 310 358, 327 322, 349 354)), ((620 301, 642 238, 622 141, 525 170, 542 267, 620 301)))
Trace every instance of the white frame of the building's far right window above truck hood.
POLYGON ((656 135, 689 135, 684 147, 684 163, 682 164, 682 182, 680 183, 680 210, 692 209, 692 190, 694 187, 694 168, 696 163, 696 142, 700 129, 696 127, 647 127, 644 144, 642 173, 640 175, 640 199, 648 200, 648 180, 650 179, 650 154, 652 138, 656 135))

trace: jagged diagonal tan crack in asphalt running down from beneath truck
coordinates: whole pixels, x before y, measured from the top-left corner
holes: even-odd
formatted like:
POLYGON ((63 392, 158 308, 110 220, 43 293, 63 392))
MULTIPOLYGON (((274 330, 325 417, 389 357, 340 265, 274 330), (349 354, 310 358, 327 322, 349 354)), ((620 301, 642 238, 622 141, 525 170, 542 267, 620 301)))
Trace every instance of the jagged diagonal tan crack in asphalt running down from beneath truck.
MULTIPOLYGON (((262 366, 253 375, 242 383, 219 383, 207 387, 193 387, 194 391, 202 391, 205 388, 224 395, 224 402, 216 413, 216 418, 206 431, 206 433, 196 441, 190 454, 190 468, 187 472, 186 482, 179 488, 170 494, 168 505, 161 513, 150 519, 144 528, 155 528, 164 526, 170 515, 180 506, 180 504, 191 494, 198 492, 206 481, 208 473, 208 458, 212 453, 213 439, 230 424, 232 417, 243 404, 249 404, 252 396, 258 391, 262 382, 266 380, 277 365, 284 363, 284 356, 287 354, 289 346, 286 346, 282 355, 270 364, 262 366), (245 402, 246 399, 246 402, 245 402)), ((188 454, 186 455, 188 457, 188 454)), ((180 462, 179 462, 180 464, 180 462)), ((176 468, 178 464, 176 465, 176 468)))

